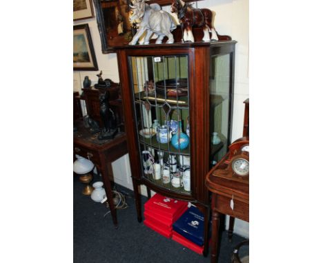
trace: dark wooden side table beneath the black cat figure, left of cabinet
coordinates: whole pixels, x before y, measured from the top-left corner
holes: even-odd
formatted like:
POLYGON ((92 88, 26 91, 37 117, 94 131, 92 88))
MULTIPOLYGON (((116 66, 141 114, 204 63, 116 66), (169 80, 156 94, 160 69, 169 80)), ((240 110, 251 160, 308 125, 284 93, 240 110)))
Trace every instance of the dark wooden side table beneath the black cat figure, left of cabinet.
POLYGON ((91 134, 83 122, 77 122, 77 131, 74 132, 74 154, 89 158, 102 175, 104 189, 108 198, 112 221, 117 227, 117 212, 113 203, 110 179, 113 178, 112 162, 128 153, 126 134, 120 131, 112 140, 99 140, 99 134, 91 134))

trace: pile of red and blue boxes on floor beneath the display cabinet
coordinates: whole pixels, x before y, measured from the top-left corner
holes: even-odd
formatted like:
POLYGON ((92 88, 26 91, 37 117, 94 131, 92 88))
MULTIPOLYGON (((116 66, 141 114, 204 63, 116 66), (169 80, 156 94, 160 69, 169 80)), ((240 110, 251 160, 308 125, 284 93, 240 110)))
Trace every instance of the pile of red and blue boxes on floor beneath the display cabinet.
POLYGON ((144 204, 144 224, 166 238, 202 254, 204 215, 188 202, 155 194, 144 204))

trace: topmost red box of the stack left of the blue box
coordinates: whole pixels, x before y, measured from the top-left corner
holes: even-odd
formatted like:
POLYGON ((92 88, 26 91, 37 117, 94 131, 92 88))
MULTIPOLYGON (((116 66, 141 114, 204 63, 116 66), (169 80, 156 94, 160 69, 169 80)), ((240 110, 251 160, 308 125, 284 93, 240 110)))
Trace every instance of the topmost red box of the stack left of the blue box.
POLYGON ((188 202, 166 198, 158 193, 150 198, 145 204, 145 210, 158 211, 159 214, 165 215, 166 218, 175 218, 179 211, 187 207, 188 202))

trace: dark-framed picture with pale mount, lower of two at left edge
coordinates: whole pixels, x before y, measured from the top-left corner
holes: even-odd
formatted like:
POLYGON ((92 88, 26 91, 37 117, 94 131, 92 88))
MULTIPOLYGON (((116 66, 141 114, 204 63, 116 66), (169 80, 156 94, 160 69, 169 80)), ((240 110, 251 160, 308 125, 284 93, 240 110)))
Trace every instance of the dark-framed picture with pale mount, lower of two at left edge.
POLYGON ((88 24, 73 28, 73 70, 98 70, 88 24))

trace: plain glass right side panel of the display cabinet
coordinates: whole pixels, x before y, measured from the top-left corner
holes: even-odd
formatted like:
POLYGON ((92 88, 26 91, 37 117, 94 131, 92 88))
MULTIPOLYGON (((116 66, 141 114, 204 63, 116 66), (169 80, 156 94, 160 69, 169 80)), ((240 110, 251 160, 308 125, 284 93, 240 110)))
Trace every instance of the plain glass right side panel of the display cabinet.
POLYGON ((210 161, 215 165, 226 154, 229 136, 230 54, 211 56, 210 161))

